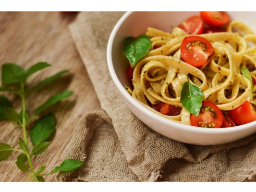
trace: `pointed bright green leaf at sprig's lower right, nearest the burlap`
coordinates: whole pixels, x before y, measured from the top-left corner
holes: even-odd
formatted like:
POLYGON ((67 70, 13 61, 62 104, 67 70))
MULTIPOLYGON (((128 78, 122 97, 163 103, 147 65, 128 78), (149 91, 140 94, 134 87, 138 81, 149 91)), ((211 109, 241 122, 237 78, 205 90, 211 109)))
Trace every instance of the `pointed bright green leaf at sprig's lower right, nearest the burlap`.
POLYGON ((55 167, 51 173, 55 173, 58 171, 73 171, 77 168, 80 168, 82 165, 85 165, 84 161, 75 160, 75 159, 66 159, 64 160, 60 166, 55 167))

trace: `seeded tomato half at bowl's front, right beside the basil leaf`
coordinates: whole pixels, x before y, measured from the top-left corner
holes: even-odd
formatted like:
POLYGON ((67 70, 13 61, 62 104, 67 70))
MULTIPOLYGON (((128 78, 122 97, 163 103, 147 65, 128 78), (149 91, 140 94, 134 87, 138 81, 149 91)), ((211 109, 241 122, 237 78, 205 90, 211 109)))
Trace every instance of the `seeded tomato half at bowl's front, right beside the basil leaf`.
POLYGON ((190 123, 196 127, 219 128, 223 122, 221 110, 212 102, 203 101, 199 115, 191 115, 190 123))

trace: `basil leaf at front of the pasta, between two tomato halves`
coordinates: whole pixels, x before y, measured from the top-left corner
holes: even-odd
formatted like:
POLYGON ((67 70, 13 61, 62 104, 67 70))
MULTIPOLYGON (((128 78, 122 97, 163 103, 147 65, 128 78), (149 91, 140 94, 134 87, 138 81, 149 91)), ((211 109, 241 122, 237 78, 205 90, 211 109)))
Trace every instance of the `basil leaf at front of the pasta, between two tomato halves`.
POLYGON ((185 82, 181 91, 181 102, 184 108, 197 116, 203 102, 202 90, 189 81, 185 82))

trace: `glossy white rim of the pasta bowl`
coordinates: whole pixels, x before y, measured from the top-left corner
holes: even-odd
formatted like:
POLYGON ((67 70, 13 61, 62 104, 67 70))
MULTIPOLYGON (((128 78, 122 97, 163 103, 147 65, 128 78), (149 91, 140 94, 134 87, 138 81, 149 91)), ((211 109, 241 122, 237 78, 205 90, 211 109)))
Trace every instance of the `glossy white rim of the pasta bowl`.
POLYGON ((113 61, 112 61, 112 46, 113 41, 115 39, 115 36, 120 28, 120 26, 123 24, 123 22, 134 12, 125 12, 122 17, 119 19, 119 21, 115 24, 107 45, 107 63, 108 63, 108 69, 110 72, 110 76, 112 78, 112 81, 114 82, 115 86, 118 88, 119 92, 122 94, 125 99, 128 100, 130 104, 134 106, 134 108, 138 108, 138 110, 141 110, 143 113, 147 114, 149 118, 152 119, 158 119, 158 121, 163 122, 165 125, 168 125, 170 127, 175 126, 183 131, 189 131, 189 132, 201 132, 201 133, 209 133, 209 134, 222 134, 222 133, 234 133, 239 132, 241 130, 247 130, 247 129, 253 129, 253 125, 256 124, 256 121, 244 124, 244 125, 238 125, 235 127, 229 127, 229 128, 202 128, 202 127, 195 127, 192 125, 186 125, 182 124, 173 120, 169 120, 167 118, 164 118, 157 113, 154 113, 153 111, 150 111, 146 107, 142 105, 138 100, 134 99, 133 96, 131 96, 123 87, 121 82, 119 81, 116 72, 114 70, 113 61), (140 107, 141 106, 141 107, 140 107), (182 125, 182 126, 181 126, 182 125))

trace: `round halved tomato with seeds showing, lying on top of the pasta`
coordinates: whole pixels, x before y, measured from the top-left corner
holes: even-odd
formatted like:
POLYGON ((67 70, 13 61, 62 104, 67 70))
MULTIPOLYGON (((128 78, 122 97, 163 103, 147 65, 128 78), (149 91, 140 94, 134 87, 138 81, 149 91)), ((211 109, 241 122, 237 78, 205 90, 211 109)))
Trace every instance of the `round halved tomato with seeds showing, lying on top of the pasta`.
POLYGON ((213 53, 211 43, 200 36, 186 36, 181 45, 182 59, 195 66, 206 64, 207 59, 213 53))

